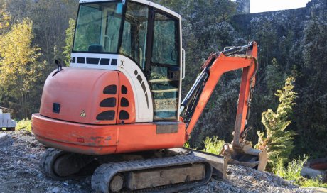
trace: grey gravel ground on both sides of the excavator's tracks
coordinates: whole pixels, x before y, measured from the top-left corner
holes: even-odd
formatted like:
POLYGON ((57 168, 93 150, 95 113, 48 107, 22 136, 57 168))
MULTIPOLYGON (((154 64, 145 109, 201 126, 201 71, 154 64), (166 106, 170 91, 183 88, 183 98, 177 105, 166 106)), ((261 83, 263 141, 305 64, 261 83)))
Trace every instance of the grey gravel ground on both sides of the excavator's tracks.
MULTIPOLYGON (((91 178, 54 181, 44 177, 38 160, 45 150, 33 136, 23 132, 8 132, 11 138, 0 141, 0 193, 2 192, 92 192, 91 178)), ((186 192, 313 192, 299 189, 269 172, 257 172, 247 167, 229 165, 227 180, 215 180, 186 192)))

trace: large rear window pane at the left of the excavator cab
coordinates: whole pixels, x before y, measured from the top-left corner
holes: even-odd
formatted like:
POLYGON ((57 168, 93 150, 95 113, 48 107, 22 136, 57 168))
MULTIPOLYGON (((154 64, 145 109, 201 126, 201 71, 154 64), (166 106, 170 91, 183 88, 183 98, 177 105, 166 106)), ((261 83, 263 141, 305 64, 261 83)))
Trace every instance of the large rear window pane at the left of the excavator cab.
POLYGON ((81 4, 77 17, 74 52, 118 53, 122 3, 81 4))

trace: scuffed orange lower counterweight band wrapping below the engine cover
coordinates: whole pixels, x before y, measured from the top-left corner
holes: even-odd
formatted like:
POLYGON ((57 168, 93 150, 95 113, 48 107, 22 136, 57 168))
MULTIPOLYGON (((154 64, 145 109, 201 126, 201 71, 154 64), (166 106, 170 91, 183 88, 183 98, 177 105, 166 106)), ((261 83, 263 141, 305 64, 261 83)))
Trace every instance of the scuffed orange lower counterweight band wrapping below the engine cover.
POLYGON ((36 139, 49 147, 87 155, 129 153, 142 150, 180 148, 186 142, 186 125, 177 133, 156 133, 155 123, 87 125, 33 114, 36 139))

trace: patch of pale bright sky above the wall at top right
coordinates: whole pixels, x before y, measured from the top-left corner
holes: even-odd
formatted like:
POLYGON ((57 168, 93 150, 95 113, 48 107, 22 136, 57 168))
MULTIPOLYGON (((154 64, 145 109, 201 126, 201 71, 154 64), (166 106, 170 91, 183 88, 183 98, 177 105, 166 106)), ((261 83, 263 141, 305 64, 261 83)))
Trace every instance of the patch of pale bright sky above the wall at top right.
POLYGON ((306 6, 310 0, 251 0, 251 13, 295 9, 306 6))

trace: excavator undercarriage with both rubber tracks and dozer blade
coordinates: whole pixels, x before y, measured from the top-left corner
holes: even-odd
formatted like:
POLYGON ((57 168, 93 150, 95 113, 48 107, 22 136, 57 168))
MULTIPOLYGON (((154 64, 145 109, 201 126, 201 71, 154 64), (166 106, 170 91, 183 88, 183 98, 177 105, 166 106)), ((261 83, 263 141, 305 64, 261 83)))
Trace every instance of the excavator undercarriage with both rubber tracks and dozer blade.
POLYGON ((54 180, 92 175, 96 192, 178 192, 224 178, 227 159, 187 148, 99 156, 48 148, 40 167, 54 180))

